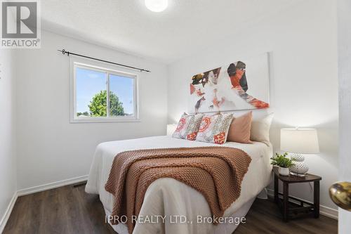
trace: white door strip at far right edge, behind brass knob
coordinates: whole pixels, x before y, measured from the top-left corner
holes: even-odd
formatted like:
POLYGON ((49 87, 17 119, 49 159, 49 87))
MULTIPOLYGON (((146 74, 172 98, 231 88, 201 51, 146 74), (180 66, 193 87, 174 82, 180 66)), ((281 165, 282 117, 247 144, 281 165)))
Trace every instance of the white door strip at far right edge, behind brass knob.
MULTIPOLYGON (((351 2, 338 0, 339 180, 351 182, 351 2)), ((351 233, 351 212, 339 209, 339 233, 351 233)))

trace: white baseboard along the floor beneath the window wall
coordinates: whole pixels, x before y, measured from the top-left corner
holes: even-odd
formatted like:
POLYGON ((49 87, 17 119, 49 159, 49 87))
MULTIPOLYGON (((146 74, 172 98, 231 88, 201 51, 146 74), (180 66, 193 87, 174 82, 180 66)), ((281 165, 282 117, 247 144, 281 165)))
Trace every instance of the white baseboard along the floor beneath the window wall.
POLYGON ((76 178, 69 178, 69 179, 63 180, 63 181, 46 183, 46 184, 41 185, 41 186, 34 186, 31 188, 20 189, 17 191, 17 194, 18 194, 18 197, 20 197, 20 196, 28 195, 31 193, 38 193, 38 192, 41 192, 44 190, 49 190, 49 189, 58 188, 58 187, 62 187, 62 186, 68 186, 68 185, 73 184, 73 183, 83 182, 83 181, 86 181, 87 179, 88 179, 88 175, 79 176, 76 178))

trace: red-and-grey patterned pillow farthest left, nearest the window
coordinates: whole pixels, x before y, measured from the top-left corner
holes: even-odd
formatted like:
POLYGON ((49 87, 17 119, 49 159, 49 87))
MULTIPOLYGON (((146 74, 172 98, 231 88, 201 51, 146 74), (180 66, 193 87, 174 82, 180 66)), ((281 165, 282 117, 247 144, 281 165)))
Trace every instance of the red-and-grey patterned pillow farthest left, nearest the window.
POLYGON ((197 131, 199 131, 202 117, 202 114, 187 115, 184 113, 180 118, 176 131, 174 131, 172 136, 174 138, 194 141, 197 137, 197 131))

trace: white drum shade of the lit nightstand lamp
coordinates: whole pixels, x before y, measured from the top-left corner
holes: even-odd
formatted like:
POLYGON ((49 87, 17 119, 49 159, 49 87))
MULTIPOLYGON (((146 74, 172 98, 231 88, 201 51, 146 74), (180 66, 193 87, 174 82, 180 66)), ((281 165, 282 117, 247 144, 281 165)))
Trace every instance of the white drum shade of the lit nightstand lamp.
POLYGON ((317 129, 280 129, 280 150, 302 154, 319 153, 317 129))

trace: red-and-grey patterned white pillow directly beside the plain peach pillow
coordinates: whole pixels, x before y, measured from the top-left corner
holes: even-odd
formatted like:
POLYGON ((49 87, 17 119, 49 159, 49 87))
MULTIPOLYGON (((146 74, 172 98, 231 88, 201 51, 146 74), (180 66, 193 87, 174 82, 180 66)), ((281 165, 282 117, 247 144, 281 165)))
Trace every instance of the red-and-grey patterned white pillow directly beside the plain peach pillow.
POLYGON ((202 117, 196 141, 224 144, 233 114, 206 115, 202 117))

